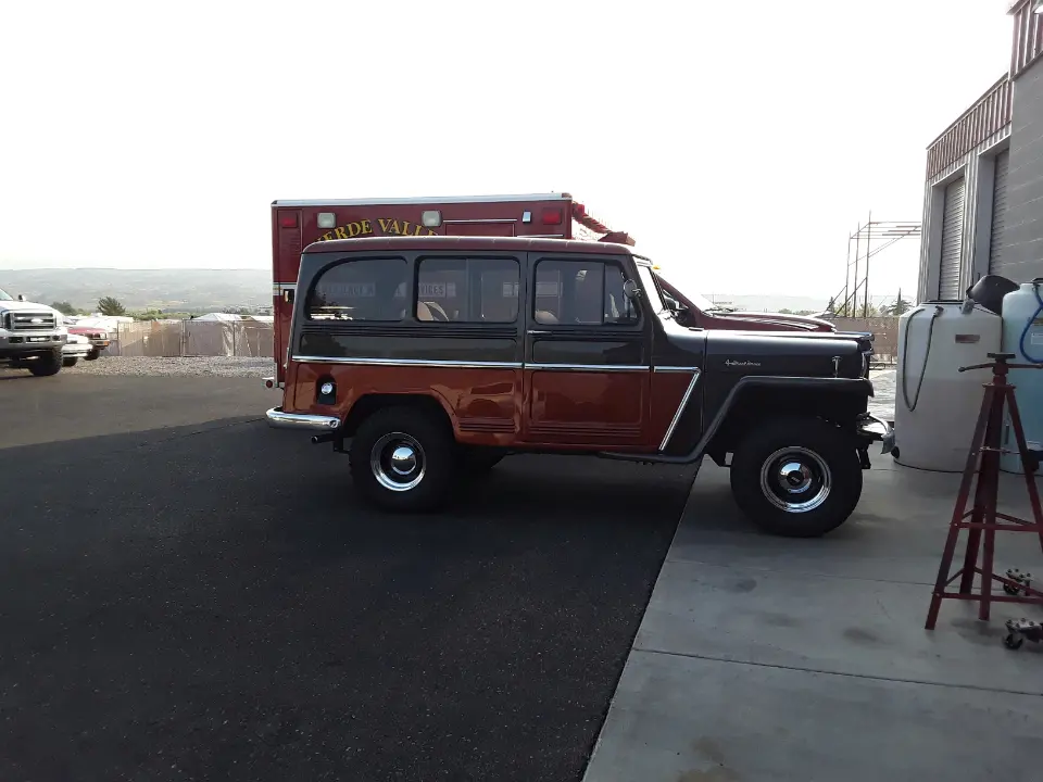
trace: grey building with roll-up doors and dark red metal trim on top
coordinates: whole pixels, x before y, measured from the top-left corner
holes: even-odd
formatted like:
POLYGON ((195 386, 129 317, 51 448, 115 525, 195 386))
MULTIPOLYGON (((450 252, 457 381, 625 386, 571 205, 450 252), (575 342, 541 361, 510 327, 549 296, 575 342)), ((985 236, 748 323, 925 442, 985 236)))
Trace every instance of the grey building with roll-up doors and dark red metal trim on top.
POLYGON ((1043 0, 1015 0, 1010 64, 928 148, 918 301, 1043 277, 1043 0))

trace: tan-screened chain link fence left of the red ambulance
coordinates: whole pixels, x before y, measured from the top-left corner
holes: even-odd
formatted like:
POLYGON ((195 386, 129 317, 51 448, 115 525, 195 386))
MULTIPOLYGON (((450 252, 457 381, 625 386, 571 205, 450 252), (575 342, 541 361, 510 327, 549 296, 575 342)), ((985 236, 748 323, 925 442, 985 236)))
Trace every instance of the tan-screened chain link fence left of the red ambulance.
POLYGON ((146 320, 118 324, 111 338, 114 356, 271 358, 275 332, 251 320, 146 320))

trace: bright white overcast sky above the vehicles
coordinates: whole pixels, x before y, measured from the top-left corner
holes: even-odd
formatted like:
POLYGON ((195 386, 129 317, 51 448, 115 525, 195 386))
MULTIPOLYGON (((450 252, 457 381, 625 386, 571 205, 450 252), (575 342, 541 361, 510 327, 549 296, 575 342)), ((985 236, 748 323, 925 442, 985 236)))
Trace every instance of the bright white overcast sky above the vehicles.
POLYGON ((870 209, 920 219, 1007 5, 11 0, 0 267, 268 267, 277 198, 566 190, 703 293, 829 295, 870 209))

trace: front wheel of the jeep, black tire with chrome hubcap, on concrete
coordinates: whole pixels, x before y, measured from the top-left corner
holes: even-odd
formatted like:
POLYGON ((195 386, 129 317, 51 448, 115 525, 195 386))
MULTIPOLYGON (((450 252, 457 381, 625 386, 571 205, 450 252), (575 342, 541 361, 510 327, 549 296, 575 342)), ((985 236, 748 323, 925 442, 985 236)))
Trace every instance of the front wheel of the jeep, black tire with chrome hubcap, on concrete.
POLYGON ((820 418, 782 418, 757 426, 740 442, 731 491, 764 531, 819 538, 858 505, 862 464, 850 432, 820 418), (783 477, 788 464, 797 469, 783 477))

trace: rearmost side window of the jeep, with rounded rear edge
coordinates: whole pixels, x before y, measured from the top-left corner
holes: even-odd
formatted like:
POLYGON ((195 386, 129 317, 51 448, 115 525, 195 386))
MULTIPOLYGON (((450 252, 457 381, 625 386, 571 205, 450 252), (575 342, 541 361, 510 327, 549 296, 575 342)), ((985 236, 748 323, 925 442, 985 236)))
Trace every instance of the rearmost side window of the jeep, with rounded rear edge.
POLYGON ((344 261, 316 280, 304 312, 312 320, 401 320, 407 281, 404 258, 344 261))

